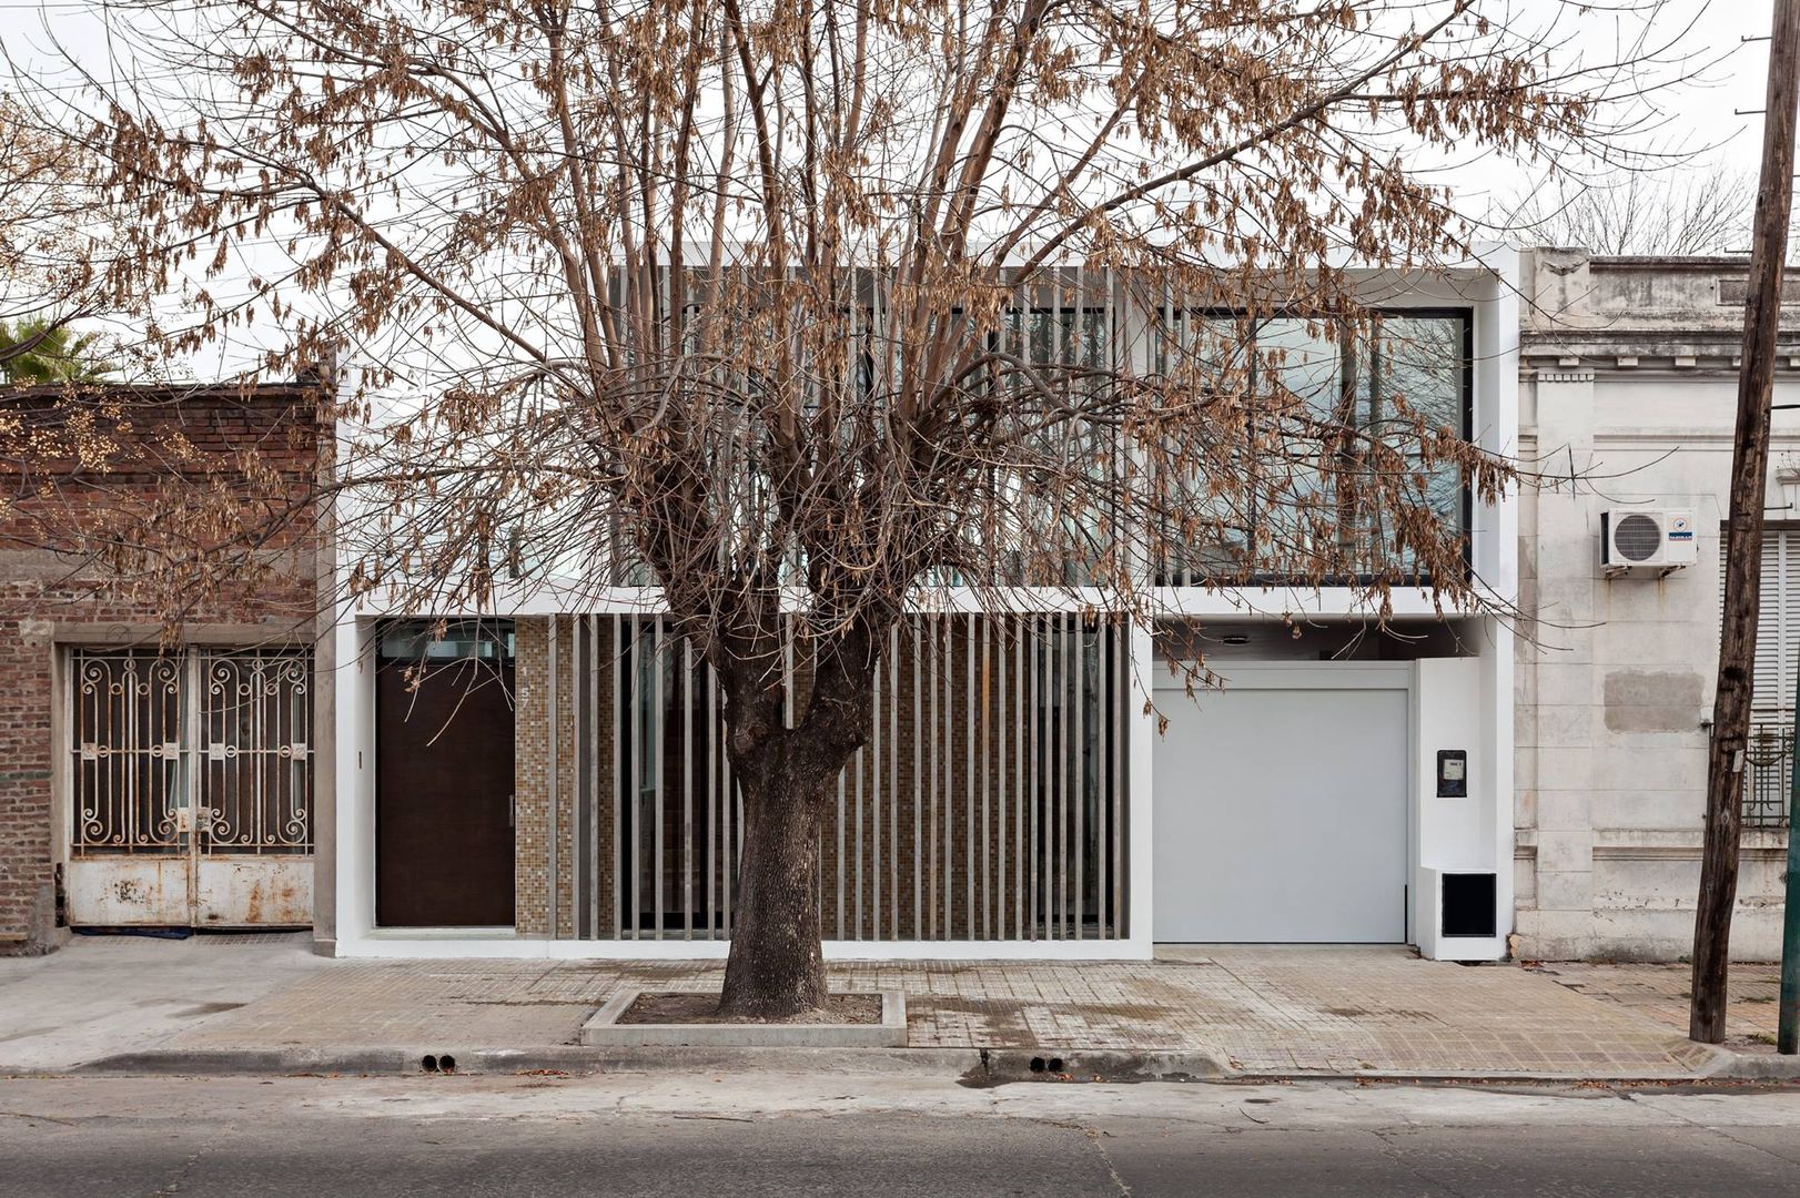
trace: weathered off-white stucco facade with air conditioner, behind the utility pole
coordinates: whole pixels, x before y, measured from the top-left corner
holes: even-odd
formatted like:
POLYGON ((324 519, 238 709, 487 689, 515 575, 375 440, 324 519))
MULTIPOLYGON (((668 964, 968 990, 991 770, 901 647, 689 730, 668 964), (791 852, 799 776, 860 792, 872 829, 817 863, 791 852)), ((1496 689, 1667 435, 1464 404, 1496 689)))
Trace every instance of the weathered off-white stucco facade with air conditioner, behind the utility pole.
MULTIPOLYGON (((1521 272, 1521 457, 1543 473, 1519 522, 1532 617, 1516 676, 1525 957, 1676 959, 1692 943, 1744 272, 1742 259, 1579 250, 1537 250, 1521 272), (1606 577, 1600 513, 1660 507, 1694 513, 1697 561, 1606 577)), ((1789 317, 1795 329, 1800 311, 1789 317)), ((1777 407, 1800 401, 1800 329, 1782 342, 1777 407)), ((1800 518, 1782 482, 1796 464, 1800 412, 1777 410, 1771 541, 1800 518)), ((1793 590, 1778 568, 1766 556, 1764 595, 1793 590)), ((1769 606, 1764 657, 1780 660, 1793 644, 1769 606)), ((1773 729, 1793 698, 1769 684, 1759 696, 1773 729)), ((1746 827, 1741 959, 1778 955, 1786 842, 1784 827, 1746 827)))

